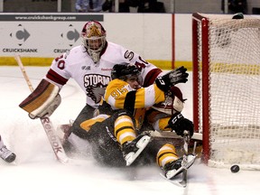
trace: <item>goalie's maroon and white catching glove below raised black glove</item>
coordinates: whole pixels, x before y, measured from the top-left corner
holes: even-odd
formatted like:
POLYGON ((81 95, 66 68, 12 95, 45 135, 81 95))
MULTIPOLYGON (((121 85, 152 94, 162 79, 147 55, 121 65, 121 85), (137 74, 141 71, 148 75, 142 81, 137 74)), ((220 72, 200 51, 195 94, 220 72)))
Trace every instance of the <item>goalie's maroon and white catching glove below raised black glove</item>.
POLYGON ((165 94, 165 100, 153 105, 153 109, 172 116, 176 112, 181 113, 185 100, 186 99, 182 98, 181 89, 173 86, 169 92, 165 94))

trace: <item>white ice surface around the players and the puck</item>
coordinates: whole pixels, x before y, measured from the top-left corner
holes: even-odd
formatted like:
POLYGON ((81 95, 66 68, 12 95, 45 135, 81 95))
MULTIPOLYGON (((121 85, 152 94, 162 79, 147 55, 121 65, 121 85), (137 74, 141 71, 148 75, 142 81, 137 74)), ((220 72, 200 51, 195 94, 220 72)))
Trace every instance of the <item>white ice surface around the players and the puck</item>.
MULTIPOLYGON (((32 86, 36 87, 49 68, 25 67, 32 86)), ((180 85, 188 98, 183 115, 192 119, 192 80, 180 85)), ((17 158, 15 163, 0 160, 1 195, 46 194, 189 194, 245 195, 258 194, 257 171, 230 172, 209 168, 198 160, 188 171, 188 186, 180 188, 165 181, 154 167, 112 169, 100 167, 89 157, 76 163, 61 164, 39 119, 30 119, 18 105, 30 94, 20 68, 0 67, 0 134, 17 158)), ((56 127, 78 116, 85 105, 83 91, 70 79, 60 91, 62 102, 51 116, 56 127)), ((257 150, 257 148, 255 148, 257 150)))

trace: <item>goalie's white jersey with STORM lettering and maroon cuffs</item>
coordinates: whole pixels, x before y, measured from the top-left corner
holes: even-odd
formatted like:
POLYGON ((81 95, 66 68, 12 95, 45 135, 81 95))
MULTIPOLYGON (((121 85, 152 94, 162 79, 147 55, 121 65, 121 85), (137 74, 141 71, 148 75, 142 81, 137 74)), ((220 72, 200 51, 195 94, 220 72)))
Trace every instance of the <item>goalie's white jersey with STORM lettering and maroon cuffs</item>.
POLYGON ((111 70, 115 64, 122 62, 135 64, 141 71, 144 87, 151 85, 151 82, 162 73, 162 70, 143 60, 135 52, 127 51, 113 42, 106 42, 106 47, 100 55, 100 60, 94 63, 84 46, 74 47, 70 52, 52 61, 45 79, 59 88, 62 88, 70 78, 75 79, 87 95, 87 104, 98 107, 111 80, 111 70))

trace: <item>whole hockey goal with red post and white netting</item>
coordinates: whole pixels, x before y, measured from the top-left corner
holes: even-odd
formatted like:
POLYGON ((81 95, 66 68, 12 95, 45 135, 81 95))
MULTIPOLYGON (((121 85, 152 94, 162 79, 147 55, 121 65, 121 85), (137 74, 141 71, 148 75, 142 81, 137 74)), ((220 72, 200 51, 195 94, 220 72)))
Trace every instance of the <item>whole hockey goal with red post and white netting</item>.
POLYGON ((260 19, 192 14, 193 122, 209 166, 260 170, 260 19))

